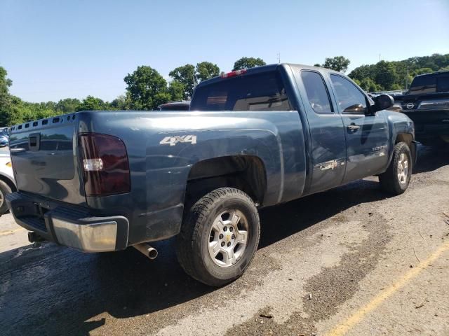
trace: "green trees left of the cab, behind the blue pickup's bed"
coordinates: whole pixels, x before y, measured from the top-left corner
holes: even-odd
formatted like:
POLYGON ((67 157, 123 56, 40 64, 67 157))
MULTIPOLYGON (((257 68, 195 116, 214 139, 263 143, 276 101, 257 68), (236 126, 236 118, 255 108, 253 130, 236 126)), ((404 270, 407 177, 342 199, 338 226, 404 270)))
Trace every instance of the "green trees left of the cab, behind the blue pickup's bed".
MULTIPOLYGON (((255 57, 242 57, 234 63, 233 70, 248 69, 266 63, 255 57)), ((25 102, 10 94, 13 85, 6 69, 0 66, 0 127, 24 123, 30 120, 58 116, 76 111, 154 110, 160 104, 189 99, 194 87, 203 80, 220 75, 220 68, 211 62, 178 66, 170 71, 170 83, 151 66, 138 66, 123 78, 126 92, 112 102, 87 96, 85 99, 65 98, 59 102, 25 102)))

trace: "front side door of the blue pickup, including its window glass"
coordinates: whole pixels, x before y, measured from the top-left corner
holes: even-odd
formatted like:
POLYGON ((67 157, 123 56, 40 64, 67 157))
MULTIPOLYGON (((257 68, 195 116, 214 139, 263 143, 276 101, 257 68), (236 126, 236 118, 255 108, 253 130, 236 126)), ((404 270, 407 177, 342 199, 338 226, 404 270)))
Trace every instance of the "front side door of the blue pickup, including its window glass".
POLYGON ((379 174, 388 162, 388 124, 384 113, 369 113, 369 100, 347 78, 330 74, 347 144, 344 183, 379 174))

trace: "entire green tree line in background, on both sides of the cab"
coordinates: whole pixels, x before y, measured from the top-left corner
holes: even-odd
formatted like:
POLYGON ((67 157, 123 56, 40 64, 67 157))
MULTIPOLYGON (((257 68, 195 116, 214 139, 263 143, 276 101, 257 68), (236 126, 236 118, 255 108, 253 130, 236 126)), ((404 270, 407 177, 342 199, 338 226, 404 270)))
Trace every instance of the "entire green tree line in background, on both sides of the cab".
MULTIPOLYGON (((314 65, 344 73, 349 64, 349 59, 337 56, 328 57, 323 64, 314 65)), ((265 62, 261 58, 241 57, 234 63, 232 70, 262 65, 265 65, 265 62)), ((362 65, 352 70, 349 77, 363 90, 375 92, 406 89, 414 76, 441 70, 449 70, 449 54, 434 54, 411 57, 398 62, 380 61, 377 64, 362 65)), ((125 94, 116 97, 112 102, 87 96, 82 100, 66 98, 60 99, 59 102, 31 103, 9 93, 9 87, 13 82, 7 78, 6 69, 0 66, 0 126, 15 125, 75 111, 154 110, 166 102, 189 99, 198 83, 219 75, 220 68, 211 62, 185 64, 170 71, 169 76, 172 80, 167 83, 167 80, 151 66, 138 66, 133 73, 128 73, 123 78, 127 85, 125 94)))

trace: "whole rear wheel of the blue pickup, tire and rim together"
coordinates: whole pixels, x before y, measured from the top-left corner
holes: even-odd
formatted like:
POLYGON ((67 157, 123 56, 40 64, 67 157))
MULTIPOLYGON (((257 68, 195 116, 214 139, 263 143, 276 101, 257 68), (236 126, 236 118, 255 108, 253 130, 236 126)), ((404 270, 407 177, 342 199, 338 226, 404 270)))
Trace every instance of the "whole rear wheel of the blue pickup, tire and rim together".
POLYGON ((234 188, 213 190, 189 209, 177 237, 177 259, 209 286, 237 279, 253 260, 260 220, 253 200, 234 188))

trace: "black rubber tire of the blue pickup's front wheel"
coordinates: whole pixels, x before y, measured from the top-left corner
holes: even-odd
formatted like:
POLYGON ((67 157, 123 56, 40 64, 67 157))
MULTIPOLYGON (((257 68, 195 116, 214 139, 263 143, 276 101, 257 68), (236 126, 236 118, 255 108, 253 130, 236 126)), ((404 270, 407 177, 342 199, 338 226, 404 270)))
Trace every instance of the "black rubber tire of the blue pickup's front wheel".
POLYGON ((404 142, 398 142, 394 145, 393 158, 391 158, 390 165, 387 172, 379 175, 380 186, 387 193, 394 195, 400 195, 407 190, 410 183, 410 177, 412 176, 413 160, 410 148, 404 142), (408 169, 405 179, 400 179, 398 174, 401 172, 401 168, 398 163, 401 160, 401 155, 405 155, 408 162, 408 169))

